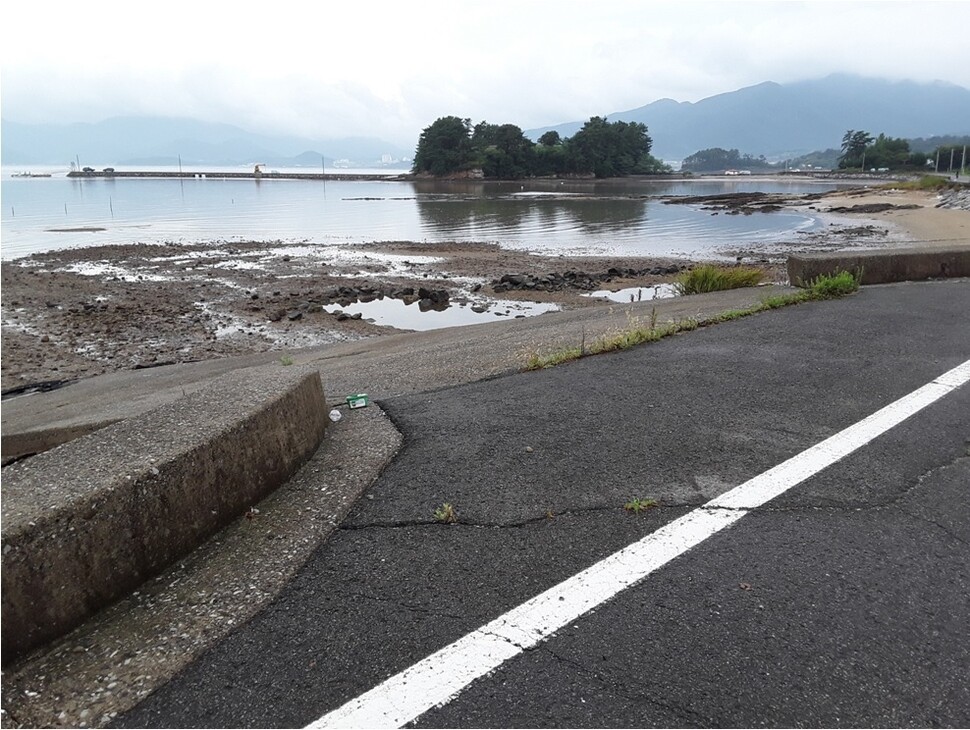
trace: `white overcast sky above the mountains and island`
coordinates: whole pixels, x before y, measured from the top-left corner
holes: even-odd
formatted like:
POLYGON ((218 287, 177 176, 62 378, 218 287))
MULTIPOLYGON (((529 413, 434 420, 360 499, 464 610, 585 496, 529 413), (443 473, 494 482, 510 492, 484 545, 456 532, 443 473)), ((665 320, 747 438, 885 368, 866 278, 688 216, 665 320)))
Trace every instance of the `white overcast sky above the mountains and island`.
POLYGON ((412 147, 848 72, 970 87, 970 2, 10 0, 4 118, 189 116, 412 147))

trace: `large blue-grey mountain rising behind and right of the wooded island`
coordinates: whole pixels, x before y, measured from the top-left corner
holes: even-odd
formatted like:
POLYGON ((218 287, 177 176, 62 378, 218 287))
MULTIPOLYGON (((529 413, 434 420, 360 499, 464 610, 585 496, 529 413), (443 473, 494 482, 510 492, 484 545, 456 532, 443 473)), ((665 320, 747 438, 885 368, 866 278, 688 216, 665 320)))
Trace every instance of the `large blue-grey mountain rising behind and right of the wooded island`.
MULTIPOLYGON (((679 160, 711 147, 789 157, 839 147, 846 130, 891 137, 970 133, 970 90, 943 82, 885 81, 833 75, 790 84, 765 82, 698 102, 661 99, 610 121, 642 122, 653 154, 679 160)), ((568 137, 585 120, 527 130, 568 137)))

